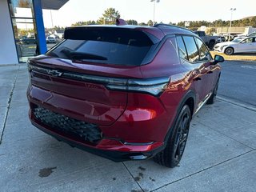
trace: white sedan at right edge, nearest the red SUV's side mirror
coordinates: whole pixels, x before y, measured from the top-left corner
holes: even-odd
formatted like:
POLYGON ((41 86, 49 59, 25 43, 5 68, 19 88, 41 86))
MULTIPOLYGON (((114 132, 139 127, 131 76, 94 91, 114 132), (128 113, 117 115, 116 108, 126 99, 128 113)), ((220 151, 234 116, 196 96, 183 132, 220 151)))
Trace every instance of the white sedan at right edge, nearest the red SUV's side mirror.
POLYGON ((256 36, 237 38, 232 42, 220 42, 214 46, 214 50, 224 54, 256 53, 256 36))

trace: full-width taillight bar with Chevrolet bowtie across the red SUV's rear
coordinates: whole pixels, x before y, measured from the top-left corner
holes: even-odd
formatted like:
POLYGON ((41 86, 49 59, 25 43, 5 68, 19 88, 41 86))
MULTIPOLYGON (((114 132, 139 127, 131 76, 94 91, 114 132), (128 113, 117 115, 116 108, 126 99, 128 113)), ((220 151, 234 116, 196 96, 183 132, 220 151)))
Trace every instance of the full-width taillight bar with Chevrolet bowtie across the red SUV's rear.
POLYGON ((121 90, 130 92, 141 92, 146 94, 152 94, 154 96, 159 96, 166 86, 170 82, 170 78, 109 78, 103 76, 96 76, 90 74, 78 74, 74 72, 67 72, 64 70, 52 70, 45 67, 32 66, 28 63, 28 68, 30 71, 38 71, 43 74, 49 74, 51 76, 56 76, 59 78, 71 78, 84 82, 94 82, 100 83, 106 86, 109 90, 121 90))

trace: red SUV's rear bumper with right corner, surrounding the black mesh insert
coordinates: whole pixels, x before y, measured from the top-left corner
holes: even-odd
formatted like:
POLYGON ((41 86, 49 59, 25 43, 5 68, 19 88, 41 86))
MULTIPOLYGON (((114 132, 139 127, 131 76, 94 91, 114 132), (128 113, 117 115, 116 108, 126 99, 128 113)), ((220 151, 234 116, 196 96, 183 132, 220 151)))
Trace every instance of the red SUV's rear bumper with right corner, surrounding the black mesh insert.
POLYGON ((38 92, 38 89, 31 91, 30 87, 27 92, 27 98, 30 103, 30 121, 38 129, 52 135, 59 141, 66 142, 70 146, 75 146, 92 154, 109 158, 114 162, 152 158, 165 147, 164 140, 170 127, 170 117, 172 115, 166 112, 159 98, 146 94, 128 93, 126 110, 114 123, 105 126, 101 125, 99 120, 98 122, 92 122, 85 116, 79 118, 82 117, 82 113, 70 113, 70 108, 66 109, 66 101, 70 101, 73 98, 64 99, 62 95, 58 97, 58 94, 52 94, 55 98, 54 101, 63 103, 62 106, 56 106, 53 105, 56 103, 49 102, 49 99, 41 100, 40 97, 43 94, 38 92), (94 123, 102 131, 102 138, 98 142, 88 142, 75 135, 58 130, 54 126, 45 124, 38 117, 35 117, 34 109, 37 106, 61 114, 66 118, 94 123), (78 118, 77 114, 79 114, 78 118))

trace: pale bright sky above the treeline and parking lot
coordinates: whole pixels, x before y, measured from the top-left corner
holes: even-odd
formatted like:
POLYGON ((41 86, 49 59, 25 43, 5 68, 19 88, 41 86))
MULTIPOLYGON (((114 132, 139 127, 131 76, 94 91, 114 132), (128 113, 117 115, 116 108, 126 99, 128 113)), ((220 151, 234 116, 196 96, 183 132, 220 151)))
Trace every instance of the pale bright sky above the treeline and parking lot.
MULTIPOLYGON (((113 7, 121 18, 148 22, 154 18, 154 2, 150 0, 69 0, 59 10, 51 10, 53 26, 71 26, 79 21, 98 20, 104 10, 113 7)), ((181 22, 230 20, 230 8, 236 8, 233 19, 256 16, 255 0, 160 0, 155 3, 155 21, 181 22)), ((51 27, 50 10, 43 10, 44 24, 51 27)))

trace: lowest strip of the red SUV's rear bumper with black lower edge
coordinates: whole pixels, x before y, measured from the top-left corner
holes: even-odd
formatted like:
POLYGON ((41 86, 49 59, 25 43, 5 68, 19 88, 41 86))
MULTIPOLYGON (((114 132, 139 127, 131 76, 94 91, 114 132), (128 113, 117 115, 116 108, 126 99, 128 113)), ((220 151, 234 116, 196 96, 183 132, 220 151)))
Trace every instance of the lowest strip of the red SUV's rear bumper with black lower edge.
POLYGON ((36 126, 39 130, 42 130, 46 134, 50 134, 59 142, 66 142, 72 147, 85 150, 91 154, 96 154, 103 158, 108 158, 114 162, 145 160, 148 158, 153 158, 155 154, 158 154, 165 147, 164 143, 160 142, 140 143, 140 145, 126 145, 113 138, 103 138, 97 146, 90 146, 86 143, 78 142, 74 139, 63 136, 62 134, 58 134, 57 132, 51 130, 49 127, 40 125, 40 123, 33 118, 33 115, 31 115, 31 110, 30 120, 32 125, 36 126))

